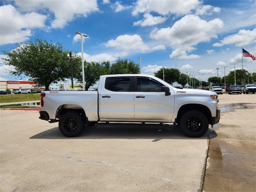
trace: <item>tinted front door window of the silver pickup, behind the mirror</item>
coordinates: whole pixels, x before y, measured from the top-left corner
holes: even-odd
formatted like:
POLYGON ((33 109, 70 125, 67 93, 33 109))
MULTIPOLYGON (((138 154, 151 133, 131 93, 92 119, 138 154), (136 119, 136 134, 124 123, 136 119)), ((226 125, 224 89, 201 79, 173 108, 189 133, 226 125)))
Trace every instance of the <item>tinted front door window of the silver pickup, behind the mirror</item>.
POLYGON ((140 92, 161 92, 162 84, 150 78, 137 77, 137 84, 140 92))

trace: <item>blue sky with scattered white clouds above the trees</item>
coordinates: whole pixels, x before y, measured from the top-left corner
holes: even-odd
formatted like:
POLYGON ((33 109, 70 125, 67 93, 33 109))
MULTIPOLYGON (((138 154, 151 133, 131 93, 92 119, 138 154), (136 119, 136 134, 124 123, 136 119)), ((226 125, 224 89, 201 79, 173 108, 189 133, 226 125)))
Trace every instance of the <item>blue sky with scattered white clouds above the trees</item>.
MULTIPOLYGON (((141 57, 142 74, 178 68, 207 81, 241 69, 241 47, 256 56, 255 10, 255 0, 1 0, 0 50, 42 38, 81 55, 81 32, 89 62, 141 57)), ((243 68, 256 72, 256 61, 243 68)), ((8 70, 0 60, 0 80, 19 79, 8 70)))

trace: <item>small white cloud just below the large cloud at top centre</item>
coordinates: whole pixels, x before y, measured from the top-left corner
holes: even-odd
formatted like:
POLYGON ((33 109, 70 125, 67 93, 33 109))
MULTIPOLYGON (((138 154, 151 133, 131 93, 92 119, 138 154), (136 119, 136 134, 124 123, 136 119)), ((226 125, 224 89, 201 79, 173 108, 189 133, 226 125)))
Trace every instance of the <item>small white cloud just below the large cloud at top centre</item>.
POLYGON ((134 22, 133 23, 133 26, 142 26, 142 27, 145 27, 145 26, 152 26, 152 25, 156 25, 156 24, 159 24, 159 23, 162 23, 166 20, 166 18, 164 17, 161 17, 161 16, 152 16, 150 15, 149 13, 146 13, 144 14, 144 19, 143 20, 140 20, 140 21, 137 21, 137 22, 134 22))

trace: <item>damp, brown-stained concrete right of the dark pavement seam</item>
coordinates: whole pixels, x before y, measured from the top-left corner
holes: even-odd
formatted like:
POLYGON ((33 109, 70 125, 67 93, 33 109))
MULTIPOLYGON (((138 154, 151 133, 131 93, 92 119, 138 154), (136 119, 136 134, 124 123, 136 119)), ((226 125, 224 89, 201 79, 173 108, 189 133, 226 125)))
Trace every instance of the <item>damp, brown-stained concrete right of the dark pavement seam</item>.
POLYGON ((222 117, 210 136, 203 184, 205 192, 255 191, 255 107, 255 103, 219 106, 222 117))

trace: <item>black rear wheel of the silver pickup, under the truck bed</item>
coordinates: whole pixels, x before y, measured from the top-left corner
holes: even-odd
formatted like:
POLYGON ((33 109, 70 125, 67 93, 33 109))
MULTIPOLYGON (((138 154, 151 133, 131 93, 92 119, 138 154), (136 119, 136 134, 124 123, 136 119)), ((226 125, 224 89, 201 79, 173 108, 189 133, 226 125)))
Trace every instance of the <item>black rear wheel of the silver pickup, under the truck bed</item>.
POLYGON ((59 130, 66 137, 76 137, 84 130, 85 122, 76 111, 63 114, 59 121, 59 130))

